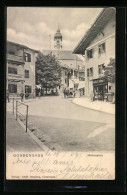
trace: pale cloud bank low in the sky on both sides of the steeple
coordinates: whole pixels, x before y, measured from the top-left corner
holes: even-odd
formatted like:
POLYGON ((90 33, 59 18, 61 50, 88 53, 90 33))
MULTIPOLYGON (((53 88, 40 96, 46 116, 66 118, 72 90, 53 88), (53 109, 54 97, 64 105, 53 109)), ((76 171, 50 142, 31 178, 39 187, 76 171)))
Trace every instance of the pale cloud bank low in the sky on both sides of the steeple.
MULTIPOLYGON (((88 29, 88 25, 81 23, 73 30, 61 29, 63 36, 63 49, 73 50, 82 36, 88 29)), ((16 29, 7 29, 7 39, 9 41, 24 44, 33 49, 49 49, 51 35, 51 46, 54 47, 54 34, 55 31, 51 29, 48 24, 39 22, 35 25, 30 25, 27 22, 17 24, 16 29)))

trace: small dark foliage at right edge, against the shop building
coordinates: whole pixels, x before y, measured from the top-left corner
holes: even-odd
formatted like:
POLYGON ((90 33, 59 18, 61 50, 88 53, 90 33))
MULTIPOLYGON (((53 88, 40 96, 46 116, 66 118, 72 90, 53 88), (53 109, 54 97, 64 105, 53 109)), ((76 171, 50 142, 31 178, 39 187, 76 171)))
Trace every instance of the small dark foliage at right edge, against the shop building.
POLYGON ((114 58, 110 58, 109 64, 105 67, 104 77, 110 83, 115 83, 115 59, 114 58))

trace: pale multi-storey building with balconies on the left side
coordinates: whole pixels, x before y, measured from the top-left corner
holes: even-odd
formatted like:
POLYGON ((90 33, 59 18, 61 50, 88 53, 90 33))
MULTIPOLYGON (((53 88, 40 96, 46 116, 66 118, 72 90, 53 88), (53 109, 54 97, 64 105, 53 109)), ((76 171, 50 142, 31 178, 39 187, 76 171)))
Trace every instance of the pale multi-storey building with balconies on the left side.
POLYGON ((6 89, 10 96, 35 97, 35 60, 38 51, 7 41, 6 89))

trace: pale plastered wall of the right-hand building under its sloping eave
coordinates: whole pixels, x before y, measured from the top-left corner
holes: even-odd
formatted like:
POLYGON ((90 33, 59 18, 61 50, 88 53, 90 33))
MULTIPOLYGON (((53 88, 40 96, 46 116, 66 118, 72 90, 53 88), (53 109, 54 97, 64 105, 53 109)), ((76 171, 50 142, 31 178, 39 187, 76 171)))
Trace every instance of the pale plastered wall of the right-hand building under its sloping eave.
POLYGON ((107 64, 110 58, 115 58, 115 18, 112 18, 105 28, 96 36, 96 38, 91 42, 89 47, 85 51, 85 83, 86 83, 86 96, 89 96, 91 91, 93 91, 92 79, 98 78, 98 65, 107 64), (105 42, 106 52, 99 56, 98 45, 105 42), (87 50, 93 49, 93 58, 88 58, 87 50), (87 78, 87 69, 93 67, 93 76, 87 78))

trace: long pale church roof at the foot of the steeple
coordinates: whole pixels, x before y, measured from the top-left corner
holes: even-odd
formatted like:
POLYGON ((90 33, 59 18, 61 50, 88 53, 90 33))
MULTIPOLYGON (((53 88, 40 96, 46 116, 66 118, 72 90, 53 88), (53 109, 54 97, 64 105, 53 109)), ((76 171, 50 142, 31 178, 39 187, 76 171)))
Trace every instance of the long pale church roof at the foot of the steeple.
POLYGON ((82 61, 81 57, 76 54, 73 54, 71 50, 42 50, 44 55, 49 53, 54 54, 59 60, 77 60, 82 61))

